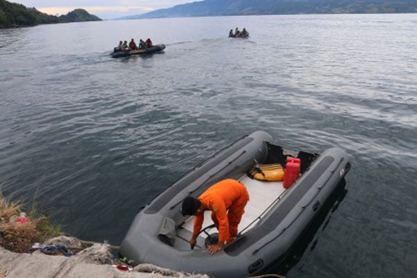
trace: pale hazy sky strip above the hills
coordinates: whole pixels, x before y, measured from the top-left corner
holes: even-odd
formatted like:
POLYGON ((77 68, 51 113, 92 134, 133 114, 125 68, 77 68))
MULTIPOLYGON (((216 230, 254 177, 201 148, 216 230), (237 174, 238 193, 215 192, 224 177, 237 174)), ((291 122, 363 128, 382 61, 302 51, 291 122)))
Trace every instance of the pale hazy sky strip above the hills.
POLYGON ((28 8, 35 7, 42 13, 63 15, 75 8, 83 8, 101 19, 139 15, 160 8, 190 3, 199 0, 8 0, 21 3, 28 8))

